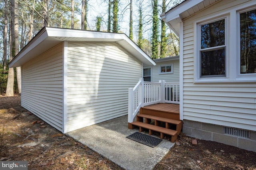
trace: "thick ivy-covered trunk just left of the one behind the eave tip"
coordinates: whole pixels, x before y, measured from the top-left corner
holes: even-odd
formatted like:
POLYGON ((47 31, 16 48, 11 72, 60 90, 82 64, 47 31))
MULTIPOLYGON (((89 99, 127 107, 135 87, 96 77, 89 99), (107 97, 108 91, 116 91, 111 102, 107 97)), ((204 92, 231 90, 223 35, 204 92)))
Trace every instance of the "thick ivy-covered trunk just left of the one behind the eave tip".
POLYGON ((153 26, 152 26, 152 59, 158 58, 158 0, 153 1, 153 26))

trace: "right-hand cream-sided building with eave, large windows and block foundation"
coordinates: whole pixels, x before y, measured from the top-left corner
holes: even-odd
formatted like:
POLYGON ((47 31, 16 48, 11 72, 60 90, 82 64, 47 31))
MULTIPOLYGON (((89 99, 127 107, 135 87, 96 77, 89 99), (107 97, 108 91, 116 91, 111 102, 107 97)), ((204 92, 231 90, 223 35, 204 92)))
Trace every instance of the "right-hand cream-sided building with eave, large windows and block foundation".
POLYGON ((161 18, 180 37, 183 133, 256 151, 256 0, 185 0, 161 18))

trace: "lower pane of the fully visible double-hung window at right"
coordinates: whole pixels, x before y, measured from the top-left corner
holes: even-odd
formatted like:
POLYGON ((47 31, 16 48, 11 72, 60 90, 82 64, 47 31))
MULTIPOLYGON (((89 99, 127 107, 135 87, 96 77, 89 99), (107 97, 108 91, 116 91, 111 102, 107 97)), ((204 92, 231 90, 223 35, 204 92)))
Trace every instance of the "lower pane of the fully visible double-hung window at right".
POLYGON ((201 75, 225 75, 225 49, 201 51, 201 75))

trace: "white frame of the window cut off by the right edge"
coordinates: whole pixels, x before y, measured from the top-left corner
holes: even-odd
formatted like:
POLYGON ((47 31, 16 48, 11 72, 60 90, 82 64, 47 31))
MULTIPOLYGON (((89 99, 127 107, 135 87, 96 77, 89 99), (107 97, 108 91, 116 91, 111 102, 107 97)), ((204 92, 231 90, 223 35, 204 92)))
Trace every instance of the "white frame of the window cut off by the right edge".
POLYGON ((236 80, 240 80, 240 81, 244 81, 244 82, 255 82, 256 81, 256 73, 244 73, 241 74, 240 70, 241 70, 241 61, 240 61, 240 14, 244 13, 244 12, 248 12, 251 10, 256 10, 256 6, 251 6, 249 8, 243 9, 243 10, 238 10, 236 12, 236 22, 237 22, 237 69, 236 69, 236 80))

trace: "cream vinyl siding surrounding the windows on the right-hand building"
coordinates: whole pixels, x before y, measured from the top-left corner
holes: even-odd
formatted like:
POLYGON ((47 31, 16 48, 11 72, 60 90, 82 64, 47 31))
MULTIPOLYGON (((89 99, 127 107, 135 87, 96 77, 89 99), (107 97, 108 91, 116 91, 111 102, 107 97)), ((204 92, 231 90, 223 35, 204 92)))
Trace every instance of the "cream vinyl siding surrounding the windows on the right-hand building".
POLYGON ((255 83, 194 83, 194 21, 228 14, 240 3, 246 2, 223 0, 184 20, 183 118, 256 131, 255 83))

